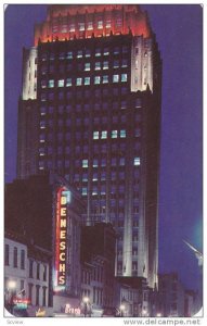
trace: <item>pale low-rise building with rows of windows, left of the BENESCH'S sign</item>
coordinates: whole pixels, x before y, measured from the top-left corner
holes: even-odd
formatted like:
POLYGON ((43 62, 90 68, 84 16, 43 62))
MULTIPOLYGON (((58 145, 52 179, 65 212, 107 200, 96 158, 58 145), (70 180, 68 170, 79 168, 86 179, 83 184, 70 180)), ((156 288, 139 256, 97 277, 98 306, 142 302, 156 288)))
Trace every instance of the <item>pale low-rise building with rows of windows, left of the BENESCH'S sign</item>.
POLYGON ((51 252, 30 244, 26 236, 5 233, 5 309, 15 316, 35 316, 43 309, 52 313, 51 252))

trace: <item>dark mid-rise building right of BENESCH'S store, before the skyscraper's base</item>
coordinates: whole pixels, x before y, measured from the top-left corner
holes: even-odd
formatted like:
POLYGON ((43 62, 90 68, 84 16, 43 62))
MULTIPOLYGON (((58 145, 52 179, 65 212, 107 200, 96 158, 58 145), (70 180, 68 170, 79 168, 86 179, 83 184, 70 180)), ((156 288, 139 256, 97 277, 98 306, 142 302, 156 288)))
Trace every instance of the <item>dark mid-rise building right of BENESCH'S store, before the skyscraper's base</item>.
POLYGON ((116 234, 112 224, 96 223, 81 228, 82 298, 90 298, 93 313, 95 310, 112 313, 114 310, 115 249, 116 234), (88 291, 85 290, 86 284, 88 291))

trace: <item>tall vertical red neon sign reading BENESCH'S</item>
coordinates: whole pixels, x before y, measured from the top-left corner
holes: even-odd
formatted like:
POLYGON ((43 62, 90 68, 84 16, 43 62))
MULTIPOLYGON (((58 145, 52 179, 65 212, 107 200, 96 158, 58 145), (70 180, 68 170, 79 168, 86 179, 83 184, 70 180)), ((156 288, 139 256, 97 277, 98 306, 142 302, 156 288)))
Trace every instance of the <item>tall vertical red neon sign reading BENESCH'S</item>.
POLYGON ((66 238, 67 204, 70 191, 62 187, 56 193, 56 234, 55 234, 55 287, 63 289, 66 285, 66 238))

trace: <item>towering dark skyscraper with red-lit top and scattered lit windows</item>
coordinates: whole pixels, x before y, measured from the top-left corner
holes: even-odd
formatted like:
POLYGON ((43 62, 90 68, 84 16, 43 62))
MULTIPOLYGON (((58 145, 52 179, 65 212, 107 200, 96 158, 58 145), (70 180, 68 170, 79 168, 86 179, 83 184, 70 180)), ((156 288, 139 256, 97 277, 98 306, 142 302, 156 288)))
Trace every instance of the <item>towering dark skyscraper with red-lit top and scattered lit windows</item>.
POLYGON ((23 51, 17 176, 64 176, 118 234, 117 276, 157 283, 161 60, 135 4, 50 5, 23 51))

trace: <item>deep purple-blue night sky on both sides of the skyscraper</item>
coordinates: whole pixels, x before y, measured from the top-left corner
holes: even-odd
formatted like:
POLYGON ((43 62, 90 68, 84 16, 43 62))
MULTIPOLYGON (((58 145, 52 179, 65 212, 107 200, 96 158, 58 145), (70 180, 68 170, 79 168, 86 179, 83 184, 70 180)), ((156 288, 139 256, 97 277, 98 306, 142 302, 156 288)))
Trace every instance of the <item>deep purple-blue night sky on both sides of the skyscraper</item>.
MULTIPOLYGON (((178 272, 196 289, 197 261, 182 239, 202 250, 203 10, 198 4, 141 8, 148 12, 163 58, 159 272, 178 272)), ((16 177, 22 49, 34 45, 34 24, 46 13, 46 5, 10 4, 4 14, 5 183, 16 177)))

